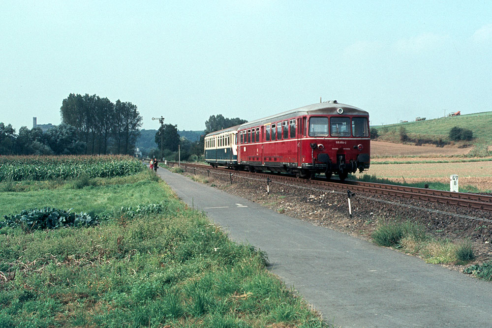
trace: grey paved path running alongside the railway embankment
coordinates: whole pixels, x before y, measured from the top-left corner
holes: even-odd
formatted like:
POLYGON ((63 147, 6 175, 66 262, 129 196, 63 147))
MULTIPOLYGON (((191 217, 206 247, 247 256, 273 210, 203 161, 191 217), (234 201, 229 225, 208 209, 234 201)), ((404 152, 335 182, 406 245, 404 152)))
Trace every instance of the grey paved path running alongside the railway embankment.
POLYGON ((492 327, 492 282, 279 214, 158 169, 232 240, 265 251, 269 269, 341 327, 492 327))

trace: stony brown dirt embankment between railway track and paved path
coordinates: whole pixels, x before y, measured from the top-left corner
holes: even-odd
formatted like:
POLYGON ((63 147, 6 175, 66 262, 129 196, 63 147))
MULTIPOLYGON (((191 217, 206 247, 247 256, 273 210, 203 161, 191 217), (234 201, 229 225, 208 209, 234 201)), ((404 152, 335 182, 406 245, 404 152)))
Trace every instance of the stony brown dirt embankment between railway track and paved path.
MULTIPOLYGON (((199 174, 198 170, 197 174, 199 174)), ((463 239, 472 240, 477 258, 468 265, 483 263, 492 259, 492 224, 490 222, 460 218, 443 213, 457 213, 491 219, 492 213, 490 211, 456 208, 390 196, 383 196, 379 201, 375 201, 365 197, 377 199, 378 196, 357 194, 351 199, 353 211, 351 217, 348 214, 346 188, 322 190, 319 189, 319 186, 306 188, 274 180, 270 182, 270 195, 267 195, 265 181, 246 179, 238 174, 234 176, 233 184, 231 184, 229 176, 223 175, 223 173, 218 175, 211 170, 210 177, 207 177, 205 173, 202 174, 204 176, 201 176, 199 180, 206 180, 207 184, 211 186, 277 210, 280 213, 360 239, 370 241, 372 232, 380 222, 408 219, 424 224, 428 233, 436 237, 451 239, 456 242, 463 239), (398 206, 385 203, 385 201, 441 212, 398 206)), ((193 174, 186 175, 193 176, 193 174)), ((465 266, 453 264, 443 266, 459 271, 465 268, 465 266)))

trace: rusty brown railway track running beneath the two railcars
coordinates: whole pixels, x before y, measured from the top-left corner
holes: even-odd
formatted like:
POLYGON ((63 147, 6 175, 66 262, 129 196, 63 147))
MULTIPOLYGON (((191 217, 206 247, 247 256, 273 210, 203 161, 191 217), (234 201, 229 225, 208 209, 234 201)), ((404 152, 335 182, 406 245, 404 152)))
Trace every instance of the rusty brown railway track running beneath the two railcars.
MULTIPOLYGON (((178 165, 176 162, 168 162, 170 165, 178 165)), ((272 174, 264 174, 264 173, 254 173, 254 172, 246 172, 246 171, 232 171, 226 168, 212 168, 209 165, 202 164, 188 164, 182 163, 182 167, 185 170, 192 169, 201 169, 201 170, 211 170, 225 172, 227 174, 232 173, 233 175, 243 175, 243 176, 254 176, 256 178, 263 178, 267 180, 267 178, 272 180, 283 180, 289 181, 290 183, 296 184, 304 184, 304 185, 317 185, 320 187, 324 187, 326 189, 338 189, 344 190, 350 189, 350 191, 354 192, 363 192, 369 193, 372 195, 381 195, 381 196, 394 196, 400 198, 414 199, 414 200, 422 200, 428 202, 435 202, 439 204, 446 204, 451 206, 459 206, 470 209, 482 209, 482 210, 492 210, 492 196, 488 195, 480 195, 480 194, 470 194, 470 193, 461 193, 461 192, 449 192, 442 190, 434 190, 434 189, 426 189, 426 188, 416 188, 416 187, 407 187, 401 185, 393 185, 393 184, 382 184, 382 183, 372 183, 372 182, 361 182, 361 181, 353 181, 346 180, 344 182, 337 182, 336 180, 326 180, 326 179, 298 179, 295 177, 287 176, 287 175, 272 175, 272 174)))

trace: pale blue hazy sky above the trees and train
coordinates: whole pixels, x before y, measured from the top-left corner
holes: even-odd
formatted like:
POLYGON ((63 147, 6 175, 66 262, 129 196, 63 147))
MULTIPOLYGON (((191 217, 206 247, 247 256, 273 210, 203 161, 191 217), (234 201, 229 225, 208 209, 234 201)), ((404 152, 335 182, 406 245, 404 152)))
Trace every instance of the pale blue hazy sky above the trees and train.
POLYGON ((69 93, 201 130, 336 99, 371 124, 492 110, 492 2, 1 1, 0 121, 69 93))

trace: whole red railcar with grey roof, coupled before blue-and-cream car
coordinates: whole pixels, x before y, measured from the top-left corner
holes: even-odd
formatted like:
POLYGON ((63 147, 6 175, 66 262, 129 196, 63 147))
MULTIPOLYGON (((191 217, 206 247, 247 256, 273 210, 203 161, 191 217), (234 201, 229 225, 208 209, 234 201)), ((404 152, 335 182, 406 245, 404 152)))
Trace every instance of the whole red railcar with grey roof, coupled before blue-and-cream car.
POLYGON ((329 101, 242 124, 238 165, 311 177, 345 179, 369 168, 369 113, 329 101))

